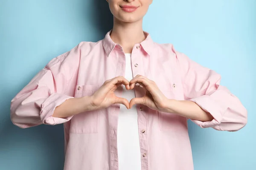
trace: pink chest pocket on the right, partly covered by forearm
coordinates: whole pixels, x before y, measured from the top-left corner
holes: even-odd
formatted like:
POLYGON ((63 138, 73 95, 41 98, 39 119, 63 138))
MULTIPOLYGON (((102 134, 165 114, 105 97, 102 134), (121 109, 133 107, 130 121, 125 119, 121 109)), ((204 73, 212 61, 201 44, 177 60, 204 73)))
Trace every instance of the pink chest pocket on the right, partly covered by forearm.
MULTIPOLYGON (((180 91, 176 84, 173 84, 172 87, 162 89, 163 90, 161 91, 168 99, 182 99, 183 92, 180 91)), ((187 132, 187 118, 179 116, 175 113, 166 113, 162 111, 157 112, 160 130, 187 132)))

